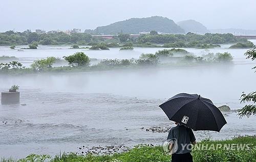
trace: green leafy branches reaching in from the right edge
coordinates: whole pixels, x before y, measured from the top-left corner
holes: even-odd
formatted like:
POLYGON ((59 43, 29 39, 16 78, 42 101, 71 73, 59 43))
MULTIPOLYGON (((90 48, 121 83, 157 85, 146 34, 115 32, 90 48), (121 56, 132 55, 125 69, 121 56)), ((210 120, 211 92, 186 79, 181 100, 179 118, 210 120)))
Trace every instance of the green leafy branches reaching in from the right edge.
MULTIPOLYGON (((256 48, 250 49, 245 53, 246 59, 251 59, 252 61, 256 59, 256 48)), ((256 66, 254 66, 252 69, 255 69, 256 66)), ((256 115, 256 91, 251 92, 249 94, 243 94, 241 95, 241 102, 243 103, 250 103, 246 104, 242 109, 238 111, 238 115, 240 118, 246 116, 249 118, 251 115, 256 115)))

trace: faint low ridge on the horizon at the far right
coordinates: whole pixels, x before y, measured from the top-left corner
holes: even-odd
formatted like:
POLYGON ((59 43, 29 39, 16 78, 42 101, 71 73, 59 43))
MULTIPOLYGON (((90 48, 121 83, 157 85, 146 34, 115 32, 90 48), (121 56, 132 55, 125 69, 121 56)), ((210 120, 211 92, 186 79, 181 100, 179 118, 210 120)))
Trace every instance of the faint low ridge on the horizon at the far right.
POLYGON ((245 29, 211 29, 211 33, 231 33, 233 35, 256 35, 256 30, 245 29))

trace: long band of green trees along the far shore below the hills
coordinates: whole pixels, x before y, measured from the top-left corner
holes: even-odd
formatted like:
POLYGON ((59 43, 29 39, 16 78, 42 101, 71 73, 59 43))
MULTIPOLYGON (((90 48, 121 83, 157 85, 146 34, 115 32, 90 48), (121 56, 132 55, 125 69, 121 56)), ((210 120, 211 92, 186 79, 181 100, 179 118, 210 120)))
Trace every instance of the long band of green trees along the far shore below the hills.
POLYGON ((113 39, 93 37, 87 33, 26 33, 8 31, 0 33, 0 45, 28 45, 36 42, 41 45, 79 44, 96 45, 97 43, 132 43, 134 45, 164 44, 163 47, 215 47, 217 44, 248 42, 245 38, 237 38, 232 34, 210 34, 198 35, 195 33, 183 34, 158 34, 151 31, 149 34, 142 34, 138 38, 132 38, 129 34, 120 33, 113 39))

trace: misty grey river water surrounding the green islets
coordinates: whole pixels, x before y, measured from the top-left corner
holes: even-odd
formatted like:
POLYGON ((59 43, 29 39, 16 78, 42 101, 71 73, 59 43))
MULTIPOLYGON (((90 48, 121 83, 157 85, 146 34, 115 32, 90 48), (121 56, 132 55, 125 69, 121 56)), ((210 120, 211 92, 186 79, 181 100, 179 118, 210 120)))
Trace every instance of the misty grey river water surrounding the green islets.
MULTIPOLYGON (((256 80, 251 70, 255 61, 245 60, 243 53, 247 49, 228 49, 228 46, 209 51, 186 50, 196 55, 228 51, 234 57, 233 65, 0 75, 0 91, 19 85, 20 102, 27 104, 0 105, 0 157, 24 157, 32 152, 54 155, 60 150, 78 151, 77 147, 83 145, 161 144, 167 133, 140 128, 173 126, 158 105, 181 92, 201 94, 217 106, 227 104, 231 110, 237 110, 243 106, 239 101, 242 92, 255 89, 254 83, 248 84, 248 80, 256 80)), ((33 60, 67 56, 81 50, 57 49, 59 46, 40 48, 17 51, 1 46, 0 56, 33 60)), ((97 59, 138 59, 142 52, 154 53, 159 49, 162 48, 84 49, 84 52, 97 59)), ((210 132, 213 139, 256 133, 256 117, 239 119, 236 112, 224 116, 228 124, 220 133, 210 132)), ((195 134, 198 140, 205 138, 202 131, 195 134)))

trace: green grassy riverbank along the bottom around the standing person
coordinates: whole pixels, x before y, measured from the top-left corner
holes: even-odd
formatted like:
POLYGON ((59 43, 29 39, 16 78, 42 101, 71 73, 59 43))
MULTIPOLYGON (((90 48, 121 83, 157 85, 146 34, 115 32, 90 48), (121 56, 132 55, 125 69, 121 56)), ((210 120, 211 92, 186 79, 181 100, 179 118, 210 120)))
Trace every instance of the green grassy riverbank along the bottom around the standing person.
MULTIPOLYGON (((232 145, 232 144, 249 144, 247 149, 208 149, 199 150, 193 149, 193 159, 195 162, 206 162, 206 161, 256 161, 256 136, 254 137, 238 137, 231 140, 223 141, 211 141, 204 140, 197 145, 232 145)), ((117 153, 114 155, 77 155, 75 153, 70 154, 58 154, 54 157, 49 155, 35 155, 30 154, 26 158, 13 159, 2 158, 2 162, 35 162, 35 161, 51 161, 51 162, 147 162, 147 161, 170 161, 171 156, 163 152, 160 146, 136 146, 127 152, 117 153)))

